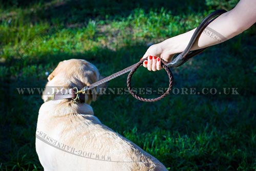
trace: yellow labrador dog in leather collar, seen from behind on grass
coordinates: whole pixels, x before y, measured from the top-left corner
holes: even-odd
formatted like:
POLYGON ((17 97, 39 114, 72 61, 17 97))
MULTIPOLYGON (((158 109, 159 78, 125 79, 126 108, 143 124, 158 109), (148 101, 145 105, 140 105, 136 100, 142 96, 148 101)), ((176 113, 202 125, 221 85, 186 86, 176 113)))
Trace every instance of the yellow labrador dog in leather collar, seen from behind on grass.
POLYGON ((49 75, 36 130, 36 152, 44 170, 167 170, 94 116, 90 103, 97 99, 97 93, 86 94, 84 102, 51 98, 60 89, 63 93, 63 88, 69 97, 72 88, 80 90, 99 79, 97 68, 81 59, 62 61, 49 75))

